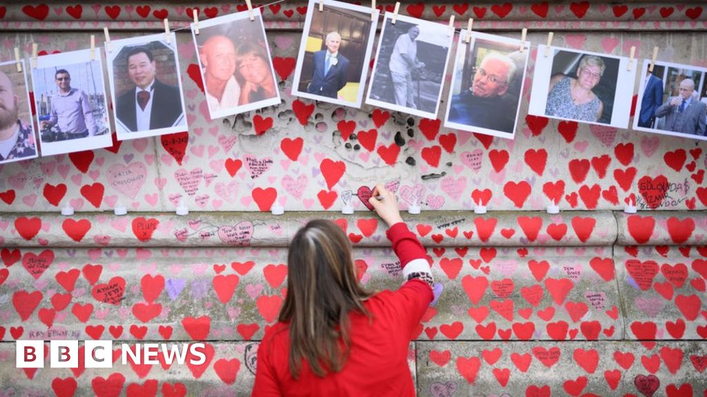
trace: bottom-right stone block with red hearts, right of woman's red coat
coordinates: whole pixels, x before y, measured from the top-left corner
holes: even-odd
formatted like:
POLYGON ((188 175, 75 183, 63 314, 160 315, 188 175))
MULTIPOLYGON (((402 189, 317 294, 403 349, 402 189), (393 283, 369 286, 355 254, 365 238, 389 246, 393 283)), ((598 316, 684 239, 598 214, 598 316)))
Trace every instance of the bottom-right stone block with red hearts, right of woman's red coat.
POLYGON ((418 342, 416 346, 419 396, 707 393, 707 343, 661 342, 650 349, 638 342, 608 341, 418 342))

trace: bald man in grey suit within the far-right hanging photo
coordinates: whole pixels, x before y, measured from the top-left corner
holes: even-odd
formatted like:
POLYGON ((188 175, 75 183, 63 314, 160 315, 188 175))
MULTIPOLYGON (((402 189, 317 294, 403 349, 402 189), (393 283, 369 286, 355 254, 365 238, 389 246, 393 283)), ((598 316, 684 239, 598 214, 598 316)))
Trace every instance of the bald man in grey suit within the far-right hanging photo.
POLYGON ((655 117, 663 117, 658 122, 658 129, 700 136, 705 134, 707 105, 692 96, 694 90, 695 82, 691 78, 680 82, 679 95, 669 97, 655 111, 655 117))

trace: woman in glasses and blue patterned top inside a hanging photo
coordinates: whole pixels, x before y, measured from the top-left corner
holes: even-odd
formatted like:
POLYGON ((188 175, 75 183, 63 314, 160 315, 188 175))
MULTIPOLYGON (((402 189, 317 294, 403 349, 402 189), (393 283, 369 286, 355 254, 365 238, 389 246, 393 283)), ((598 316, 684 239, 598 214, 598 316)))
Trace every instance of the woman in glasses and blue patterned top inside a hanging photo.
POLYGON ((563 73, 552 76, 546 114, 564 119, 598 122, 604 112, 604 103, 592 89, 602 80, 604 69, 606 65, 603 59, 585 55, 577 66, 577 78, 563 73))

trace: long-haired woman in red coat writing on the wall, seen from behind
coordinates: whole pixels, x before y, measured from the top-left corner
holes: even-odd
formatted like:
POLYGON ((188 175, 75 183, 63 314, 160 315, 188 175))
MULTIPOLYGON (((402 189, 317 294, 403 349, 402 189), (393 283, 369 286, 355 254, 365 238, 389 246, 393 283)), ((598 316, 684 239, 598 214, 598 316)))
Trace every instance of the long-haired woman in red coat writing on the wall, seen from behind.
POLYGON ((288 251, 287 297, 258 348, 252 396, 415 395, 407 355, 433 300, 432 273, 395 196, 378 185, 369 201, 389 226, 404 284, 364 290, 341 228, 310 221, 288 251))

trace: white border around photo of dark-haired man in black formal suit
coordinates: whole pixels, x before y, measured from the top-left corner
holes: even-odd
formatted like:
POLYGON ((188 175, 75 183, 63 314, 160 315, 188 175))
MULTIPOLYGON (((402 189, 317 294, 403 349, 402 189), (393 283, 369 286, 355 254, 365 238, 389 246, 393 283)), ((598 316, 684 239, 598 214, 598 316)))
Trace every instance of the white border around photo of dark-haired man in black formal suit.
MULTIPOLYGON (((177 51, 177 35, 175 32, 170 32, 170 44, 167 44, 165 33, 157 33, 155 35, 146 35, 139 37, 130 37, 127 39, 111 41, 112 50, 106 53, 106 63, 108 66, 108 81, 110 83, 110 99, 113 104, 113 120, 115 120, 115 133, 118 141, 127 141, 129 139, 146 138, 149 136, 158 136, 165 134, 175 134, 177 132, 189 131, 187 123, 187 107, 184 103, 184 88, 182 88, 182 71, 179 64, 179 52, 177 51), (150 129, 147 131, 129 131, 118 119, 117 95, 115 93, 115 71, 113 71, 113 61, 123 47, 146 44, 148 42, 161 42, 165 47, 169 47, 174 52, 175 68, 177 69, 177 84, 180 92, 180 100, 182 102, 182 117, 177 119, 174 126, 150 129)), ((110 145, 109 145, 110 146, 110 145)))

